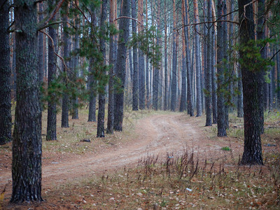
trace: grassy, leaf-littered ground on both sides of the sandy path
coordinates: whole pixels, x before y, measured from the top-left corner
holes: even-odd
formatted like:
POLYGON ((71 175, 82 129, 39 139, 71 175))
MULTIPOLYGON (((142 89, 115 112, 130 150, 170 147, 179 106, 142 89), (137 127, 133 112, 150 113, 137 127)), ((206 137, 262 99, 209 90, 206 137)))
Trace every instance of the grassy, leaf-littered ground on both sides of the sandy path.
MULTIPOLYGON (((134 125, 139 118, 159 111, 125 112, 125 132, 92 138, 96 123, 70 120, 70 130, 59 129, 57 141, 43 141, 43 162, 50 154, 83 155, 102 147, 113 147, 137 138, 134 125), (74 134, 76 133, 76 134, 74 134), (89 139, 90 142, 82 141, 89 139), (43 155, 44 156, 44 155, 43 155), (45 159, 44 159, 45 158, 45 159)), ((169 113, 172 114, 172 113, 169 113)), ((186 117, 188 118, 188 117, 186 117)), ((188 119, 186 119, 188 120, 188 119)), ((203 125, 204 118, 196 118, 203 125)), ((230 115, 229 137, 223 137, 223 153, 232 153, 228 142, 243 146, 243 122, 230 115)), ((202 132, 212 141, 216 128, 204 127, 202 132)), ((43 132, 44 133, 44 132, 43 132)), ((203 159, 188 148, 181 155, 167 154, 165 160, 146 156, 137 167, 97 174, 44 189, 45 202, 32 204, 34 209, 279 209, 280 207, 280 122, 279 113, 265 113, 265 134, 262 134, 264 166, 240 166, 240 157, 203 159)), ((242 151, 240 148, 240 153, 242 151)), ((1 153, 10 154, 10 145, 1 146, 1 153)), ((8 198, 3 202, 8 203, 8 198)), ((15 206, 9 206, 11 209, 15 206)), ((19 207, 19 206, 17 206, 19 207)), ((29 209, 21 204, 20 209, 29 209)))

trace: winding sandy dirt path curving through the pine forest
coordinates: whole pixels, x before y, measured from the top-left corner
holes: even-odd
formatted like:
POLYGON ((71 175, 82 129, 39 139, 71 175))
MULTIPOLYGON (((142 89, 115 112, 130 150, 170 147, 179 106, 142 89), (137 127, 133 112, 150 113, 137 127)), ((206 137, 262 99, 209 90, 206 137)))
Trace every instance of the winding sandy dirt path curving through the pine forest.
MULTIPOLYGON (((186 116, 179 113, 143 118, 138 121, 135 129, 139 138, 130 144, 111 148, 94 156, 68 158, 57 164, 43 163, 43 188, 101 174, 107 170, 135 166, 139 159, 147 155, 158 155, 163 160, 167 153, 179 155, 184 148, 194 153, 202 151, 204 158, 206 153, 216 156, 221 147, 209 144, 195 120, 188 119, 190 122, 186 122, 186 116)), ((10 188, 11 174, 8 171, 0 176, 0 189, 7 183, 10 188)))

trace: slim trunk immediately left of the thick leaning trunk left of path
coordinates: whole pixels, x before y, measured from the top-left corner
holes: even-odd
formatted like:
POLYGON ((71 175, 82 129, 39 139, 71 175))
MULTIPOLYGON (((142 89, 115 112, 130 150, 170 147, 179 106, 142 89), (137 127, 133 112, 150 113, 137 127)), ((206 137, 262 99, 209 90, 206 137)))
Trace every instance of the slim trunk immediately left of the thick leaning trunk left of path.
MULTIPOLYGON (((113 27, 115 3, 114 0, 110 0, 110 15, 109 22, 113 27)), ((109 44, 109 63, 111 69, 109 71, 109 99, 108 99, 108 120, 107 120, 107 134, 113 134, 113 121, 114 121, 114 69, 115 69, 115 55, 114 55, 114 35, 113 31, 110 31, 110 44, 109 44)), ((133 87, 133 85, 132 85, 133 87)))

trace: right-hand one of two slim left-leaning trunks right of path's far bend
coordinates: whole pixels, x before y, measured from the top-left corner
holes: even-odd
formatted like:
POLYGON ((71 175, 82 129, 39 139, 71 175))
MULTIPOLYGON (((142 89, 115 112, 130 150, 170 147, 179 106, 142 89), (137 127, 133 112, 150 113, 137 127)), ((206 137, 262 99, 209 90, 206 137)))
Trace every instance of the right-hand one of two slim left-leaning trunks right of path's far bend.
MULTIPOLYGON (((198 23, 198 8, 197 0, 193 1, 195 24, 198 23)), ((198 34, 198 25, 195 25, 195 70, 196 70, 196 84, 197 84, 197 117, 202 116, 202 86, 201 86, 201 65, 200 65, 200 35, 198 34)))

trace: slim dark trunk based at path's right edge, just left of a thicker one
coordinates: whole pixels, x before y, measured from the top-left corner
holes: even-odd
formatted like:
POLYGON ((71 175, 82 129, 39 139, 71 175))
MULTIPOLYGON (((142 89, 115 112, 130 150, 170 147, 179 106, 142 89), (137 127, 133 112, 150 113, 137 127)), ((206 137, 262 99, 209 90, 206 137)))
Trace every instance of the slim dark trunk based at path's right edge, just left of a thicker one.
MULTIPOLYGON (((211 64, 212 64, 212 55, 211 55, 211 0, 207 0, 207 16, 208 16, 208 31, 207 31, 207 68, 205 70, 205 85, 206 85, 206 93, 205 93, 205 106, 206 106, 206 126, 212 125, 212 78, 211 78, 211 64)), ((206 12, 206 11, 205 11, 206 12)))

